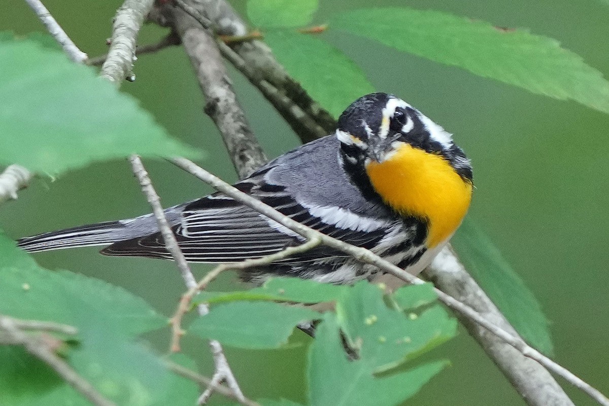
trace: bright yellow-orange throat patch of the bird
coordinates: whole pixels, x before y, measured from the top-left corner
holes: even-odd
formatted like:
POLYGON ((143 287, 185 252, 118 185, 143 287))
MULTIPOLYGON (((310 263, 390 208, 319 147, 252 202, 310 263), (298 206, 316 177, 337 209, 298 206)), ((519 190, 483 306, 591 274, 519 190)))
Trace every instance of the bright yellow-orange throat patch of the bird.
POLYGON ((470 206, 471 183, 442 156, 405 142, 381 163, 368 163, 366 172, 387 205, 400 214, 428 219, 428 248, 450 237, 470 206))

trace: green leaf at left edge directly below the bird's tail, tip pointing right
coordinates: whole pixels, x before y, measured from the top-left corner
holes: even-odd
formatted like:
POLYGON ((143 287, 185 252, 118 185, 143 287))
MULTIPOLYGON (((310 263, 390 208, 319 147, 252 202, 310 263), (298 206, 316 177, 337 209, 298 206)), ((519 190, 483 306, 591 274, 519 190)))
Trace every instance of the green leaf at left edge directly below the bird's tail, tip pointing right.
POLYGON ((74 325, 88 317, 104 317, 129 336, 167 325, 167 318, 121 287, 41 268, 1 232, 0 279, 0 313, 12 317, 74 325))

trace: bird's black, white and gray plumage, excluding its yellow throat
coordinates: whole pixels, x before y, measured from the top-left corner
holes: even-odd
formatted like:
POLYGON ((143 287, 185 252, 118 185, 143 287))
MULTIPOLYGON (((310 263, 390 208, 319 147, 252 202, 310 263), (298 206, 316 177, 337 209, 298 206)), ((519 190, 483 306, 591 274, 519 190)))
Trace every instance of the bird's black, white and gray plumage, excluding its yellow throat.
MULTIPOLYGON (((287 152, 234 186, 297 222, 368 248, 418 273, 442 247, 428 249, 426 219, 398 214, 386 205, 362 169, 365 159, 383 153, 385 140, 390 134, 395 137, 396 131, 403 132, 404 138, 412 136, 409 142, 416 147, 445 154, 456 171, 471 180, 469 161, 442 127, 403 100, 376 93, 356 100, 342 114, 336 136, 287 152), (378 139, 377 146, 369 146, 371 138, 378 139), (362 158, 362 153, 368 158, 362 158)), ((219 193, 165 212, 186 260, 191 262, 242 261, 303 242, 279 223, 219 193)), ((172 259, 152 214, 18 241, 19 247, 30 252, 108 244, 102 254, 172 259)), ((267 267, 249 269, 242 278, 262 282, 269 276, 287 275, 350 283, 373 272, 373 267, 322 246, 267 267)))

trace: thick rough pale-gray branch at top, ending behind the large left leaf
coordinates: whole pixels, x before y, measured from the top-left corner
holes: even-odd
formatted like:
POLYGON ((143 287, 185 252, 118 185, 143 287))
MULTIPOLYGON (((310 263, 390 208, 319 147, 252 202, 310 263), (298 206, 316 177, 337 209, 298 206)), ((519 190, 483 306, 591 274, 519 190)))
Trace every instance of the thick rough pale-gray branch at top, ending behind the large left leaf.
POLYGON ((122 80, 135 80, 133 61, 138 32, 154 0, 125 0, 114 16, 108 57, 100 76, 119 85, 122 80))

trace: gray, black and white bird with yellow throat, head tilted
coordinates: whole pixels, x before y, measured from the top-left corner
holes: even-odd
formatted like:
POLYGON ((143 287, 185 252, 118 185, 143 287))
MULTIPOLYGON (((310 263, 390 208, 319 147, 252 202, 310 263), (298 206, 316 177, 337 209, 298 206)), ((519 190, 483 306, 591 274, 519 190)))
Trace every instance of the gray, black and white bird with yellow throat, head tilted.
MULTIPOLYGON (((323 234, 364 247, 417 275, 448 243, 470 206, 470 160, 440 125, 387 93, 360 97, 333 135, 301 145, 233 185, 323 234)), ((186 261, 259 258, 304 237, 220 192, 164 211, 186 261)), ((172 259, 152 214, 18 240, 29 252, 107 245, 108 256, 172 259)), ((352 284, 378 273, 326 246, 241 273, 352 284)))

